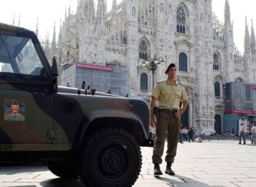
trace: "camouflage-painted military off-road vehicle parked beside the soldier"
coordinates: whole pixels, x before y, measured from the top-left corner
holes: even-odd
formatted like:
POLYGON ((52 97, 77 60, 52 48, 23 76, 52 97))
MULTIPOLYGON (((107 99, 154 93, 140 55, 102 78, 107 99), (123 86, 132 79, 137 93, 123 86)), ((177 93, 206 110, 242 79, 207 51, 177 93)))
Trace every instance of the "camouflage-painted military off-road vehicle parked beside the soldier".
POLYGON ((60 87, 35 33, 0 23, 0 162, 41 161, 86 186, 132 186, 148 140, 145 101, 60 87))

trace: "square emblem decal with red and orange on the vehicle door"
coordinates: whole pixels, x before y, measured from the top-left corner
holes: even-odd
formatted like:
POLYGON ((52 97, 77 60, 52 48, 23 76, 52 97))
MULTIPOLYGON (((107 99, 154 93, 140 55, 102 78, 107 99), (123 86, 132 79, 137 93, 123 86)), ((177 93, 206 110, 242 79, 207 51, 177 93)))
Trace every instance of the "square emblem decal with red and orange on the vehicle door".
POLYGON ((19 100, 4 100, 4 121, 25 121, 25 105, 19 100))

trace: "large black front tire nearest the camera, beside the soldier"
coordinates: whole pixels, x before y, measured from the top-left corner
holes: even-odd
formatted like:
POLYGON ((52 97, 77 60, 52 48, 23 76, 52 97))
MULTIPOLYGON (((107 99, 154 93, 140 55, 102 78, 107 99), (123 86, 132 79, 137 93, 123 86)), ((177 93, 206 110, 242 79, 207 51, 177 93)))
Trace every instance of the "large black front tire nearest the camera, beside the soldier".
POLYGON ((95 133, 83 147, 80 178, 87 187, 129 187, 142 167, 135 138, 125 130, 108 128, 95 133))

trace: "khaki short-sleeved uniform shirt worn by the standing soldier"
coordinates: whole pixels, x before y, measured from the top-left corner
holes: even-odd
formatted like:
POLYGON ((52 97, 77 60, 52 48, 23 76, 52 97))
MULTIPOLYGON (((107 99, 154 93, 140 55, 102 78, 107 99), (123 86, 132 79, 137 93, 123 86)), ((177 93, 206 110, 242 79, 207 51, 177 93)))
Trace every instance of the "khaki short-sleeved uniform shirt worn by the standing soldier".
POLYGON ((151 96, 158 99, 158 108, 160 109, 179 108, 180 102, 187 100, 184 87, 177 81, 173 85, 168 84, 167 79, 156 84, 151 96))

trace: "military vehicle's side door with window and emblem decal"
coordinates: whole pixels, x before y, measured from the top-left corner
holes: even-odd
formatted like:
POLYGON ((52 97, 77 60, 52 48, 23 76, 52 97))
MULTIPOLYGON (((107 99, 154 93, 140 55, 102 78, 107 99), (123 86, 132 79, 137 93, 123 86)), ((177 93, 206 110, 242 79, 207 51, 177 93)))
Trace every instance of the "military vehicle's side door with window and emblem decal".
POLYGON ((38 45, 33 38, 0 33, 1 145, 53 141, 52 79, 38 45))

